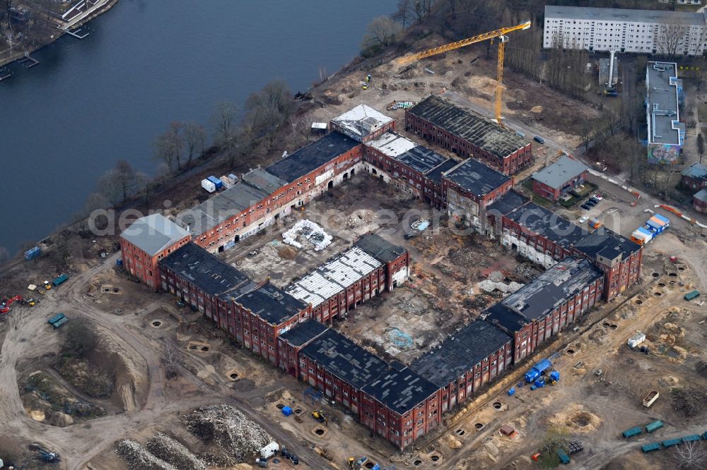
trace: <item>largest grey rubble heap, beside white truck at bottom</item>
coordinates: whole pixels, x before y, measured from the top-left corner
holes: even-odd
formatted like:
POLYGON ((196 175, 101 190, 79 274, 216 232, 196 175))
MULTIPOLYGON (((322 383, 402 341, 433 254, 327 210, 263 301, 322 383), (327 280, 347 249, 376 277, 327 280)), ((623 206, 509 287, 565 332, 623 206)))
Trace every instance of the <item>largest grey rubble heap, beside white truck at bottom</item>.
POLYGON ((261 426, 228 405, 201 406, 187 420, 189 430, 207 444, 221 447, 243 462, 274 439, 261 426))

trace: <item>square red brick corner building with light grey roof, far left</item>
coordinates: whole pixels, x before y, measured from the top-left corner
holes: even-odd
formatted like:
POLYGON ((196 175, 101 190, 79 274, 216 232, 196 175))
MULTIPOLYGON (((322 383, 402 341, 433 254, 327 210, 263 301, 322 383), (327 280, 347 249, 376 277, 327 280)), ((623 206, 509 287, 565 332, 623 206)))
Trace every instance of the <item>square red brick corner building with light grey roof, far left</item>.
POLYGON ((192 239, 188 231, 161 214, 140 217, 120 234, 123 265, 134 277, 160 289, 159 260, 192 239))

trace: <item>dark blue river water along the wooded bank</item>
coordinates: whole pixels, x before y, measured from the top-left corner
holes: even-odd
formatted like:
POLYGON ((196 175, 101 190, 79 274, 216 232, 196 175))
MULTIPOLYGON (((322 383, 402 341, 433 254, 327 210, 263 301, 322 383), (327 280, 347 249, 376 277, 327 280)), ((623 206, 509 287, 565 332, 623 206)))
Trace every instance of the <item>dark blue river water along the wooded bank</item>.
POLYGON ((358 54, 395 0, 119 0, 0 83, 0 246, 16 252, 68 221, 124 158, 152 174, 171 121, 208 124, 272 78, 305 90, 358 54))

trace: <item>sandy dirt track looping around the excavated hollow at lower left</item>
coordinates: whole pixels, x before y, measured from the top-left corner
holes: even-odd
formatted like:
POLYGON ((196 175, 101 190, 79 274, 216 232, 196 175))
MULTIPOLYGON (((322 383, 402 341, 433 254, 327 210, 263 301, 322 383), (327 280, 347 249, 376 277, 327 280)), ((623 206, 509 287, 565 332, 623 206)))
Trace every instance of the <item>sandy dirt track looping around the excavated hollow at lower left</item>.
MULTIPOLYGON (((160 351, 154 342, 141 333, 124 325, 124 317, 112 315, 96 309, 92 301, 83 294, 87 283, 103 270, 115 264, 118 254, 107 258, 102 264, 72 277, 60 289, 52 289, 42 298, 42 303, 33 308, 14 308, 8 318, 10 331, 0 350, 0 423, 2 432, 18 440, 39 442, 47 449, 62 456, 62 469, 83 469, 93 457, 112 452, 116 440, 129 438, 136 430, 159 423, 165 415, 175 411, 189 411, 197 406, 224 403, 234 406, 259 423, 278 442, 283 442, 289 450, 300 455, 308 468, 330 469, 327 462, 279 426, 264 420, 251 406, 234 396, 225 380, 214 387, 208 387, 195 375, 185 374, 185 378, 196 384, 201 392, 197 397, 169 400, 163 393, 165 374, 160 351), (137 351, 145 361, 148 375, 148 393, 144 406, 132 412, 103 416, 86 423, 77 423, 65 428, 49 426, 34 421, 25 411, 18 390, 16 366, 23 357, 37 357, 49 353, 56 339, 47 338, 54 332, 47 330, 47 318, 57 311, 71 312, 72 317, 82 316, 100 323, 101 327, 137 351)), ((148 306, 144 311, 151 310, 148 306)))

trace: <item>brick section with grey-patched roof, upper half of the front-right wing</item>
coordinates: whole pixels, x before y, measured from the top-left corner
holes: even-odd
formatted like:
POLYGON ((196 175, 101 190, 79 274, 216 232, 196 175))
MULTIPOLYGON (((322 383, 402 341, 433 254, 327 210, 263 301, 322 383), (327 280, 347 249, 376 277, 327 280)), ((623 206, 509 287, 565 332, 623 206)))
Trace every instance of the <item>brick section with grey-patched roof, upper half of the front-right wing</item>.
POLYGON ((513 362, 574 323, 602 296, 604 274, 588 260, 566 258, 489 308, 483 318, 513 336, 513 362))

